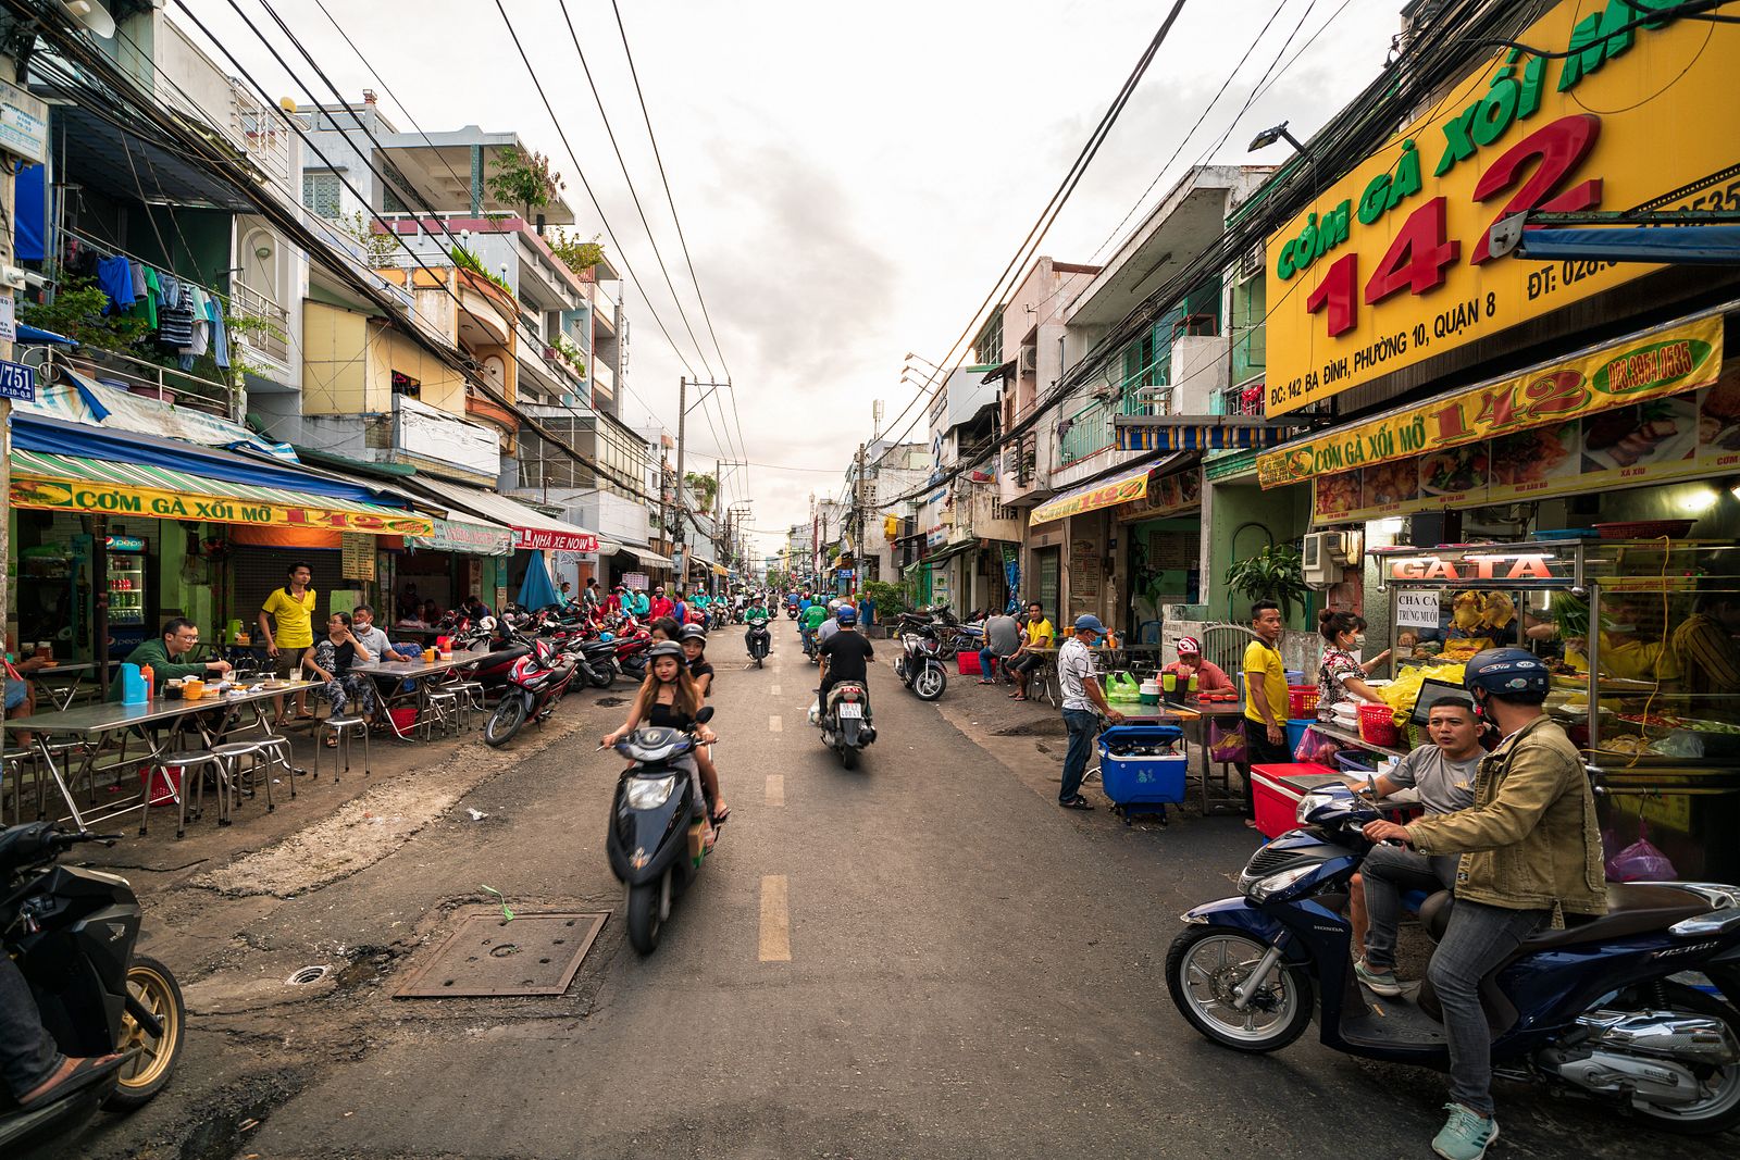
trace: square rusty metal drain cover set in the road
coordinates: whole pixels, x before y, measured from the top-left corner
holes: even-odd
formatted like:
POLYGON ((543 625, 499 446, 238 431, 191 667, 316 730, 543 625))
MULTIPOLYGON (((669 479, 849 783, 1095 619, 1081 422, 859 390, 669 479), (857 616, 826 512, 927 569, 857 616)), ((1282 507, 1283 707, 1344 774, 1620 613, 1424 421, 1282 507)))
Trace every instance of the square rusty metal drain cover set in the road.
POLYGON ((607 915, 470 915, 398 988, 398 998, 560 995, 607 915))

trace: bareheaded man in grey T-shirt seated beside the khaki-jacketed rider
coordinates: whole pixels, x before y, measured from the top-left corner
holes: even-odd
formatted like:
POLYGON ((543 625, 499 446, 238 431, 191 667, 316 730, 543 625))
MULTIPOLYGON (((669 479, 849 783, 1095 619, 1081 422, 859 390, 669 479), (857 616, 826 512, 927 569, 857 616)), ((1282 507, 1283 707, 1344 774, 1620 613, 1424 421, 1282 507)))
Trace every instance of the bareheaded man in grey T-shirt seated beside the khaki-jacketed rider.
MULTIPOLYGON (((1416 786, 1427 814, 1455 814, 1474 805, 1474 777, 1481 770, 1481 725, 1474 703, 1444 699, 1427 717, 1432 744, 1413 750, 1389 774, 1373 774, 1364 790, 1387 798, 1416 786)), ((1354 783, 1361 788, 1361 783, 1354 783)), ((1354 974, 1378 995, 1395 997, 1395 927, 1402 917, 1402 894, 1436 894, 1456 882, 1456 854, 1425 856, 1406 847, 1375 845, 1348 885, 1354 922, 1354 974), (1361 889, 1361 885, 1364 889, 1361 889)))

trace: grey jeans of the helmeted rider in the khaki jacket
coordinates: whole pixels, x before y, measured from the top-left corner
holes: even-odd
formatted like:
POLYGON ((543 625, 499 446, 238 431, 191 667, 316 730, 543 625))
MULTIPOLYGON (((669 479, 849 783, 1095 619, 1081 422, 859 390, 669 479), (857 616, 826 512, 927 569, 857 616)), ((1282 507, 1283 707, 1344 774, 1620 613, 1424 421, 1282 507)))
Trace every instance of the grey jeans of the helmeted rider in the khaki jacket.
POLYGON ((1510 958, 1528 936, 1550 920, 1545 910, 1505 910, 1456 899, 1449 929, 1432 953, 1427 977, 1444 1009, 1449 1040, 1449 1097, 1481 1115, 1493 1115, 1493 1033, 1481 1010, 1481 979, 1510 958))

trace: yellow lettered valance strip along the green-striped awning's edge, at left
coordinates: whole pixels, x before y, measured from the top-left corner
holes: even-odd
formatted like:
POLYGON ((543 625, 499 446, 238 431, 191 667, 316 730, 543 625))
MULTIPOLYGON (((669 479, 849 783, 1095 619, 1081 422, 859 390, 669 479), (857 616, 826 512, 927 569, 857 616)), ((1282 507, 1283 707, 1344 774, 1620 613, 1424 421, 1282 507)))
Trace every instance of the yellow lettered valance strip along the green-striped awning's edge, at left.
POLYGON ((435 530, 428 517, 409 513, 386 515, 362 508, 327 508, 313 503, 284 504, 188 496, 155 487, 130 487, 110 482, 14 475, 9 496, 14 508, 47 508, 50 511, 97 511, 103 515, 137 515, 160 520, 303 527, 322 532, 365 532, 369 536, 428 536, 435 530))

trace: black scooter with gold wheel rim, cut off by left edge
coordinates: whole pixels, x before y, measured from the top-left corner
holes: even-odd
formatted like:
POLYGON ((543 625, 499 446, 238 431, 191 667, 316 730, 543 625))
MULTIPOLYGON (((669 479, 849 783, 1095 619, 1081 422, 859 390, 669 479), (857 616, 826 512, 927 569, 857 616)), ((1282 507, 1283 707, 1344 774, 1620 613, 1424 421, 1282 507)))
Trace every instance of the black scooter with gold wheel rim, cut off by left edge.
POLYGON ((66 1132, 97 1108, 146 1104, 181 1057, 181 988, 164 963, 132 953, 141 915, 132 887, 117 875, 56 864, 78 843, 113 840, 63 833, 45 821, 0 831, 3 948, 30 984, 44 1028, 66 1056, 125 1057, 30 1111, 0 1090, 0 1157, 66 1132))

